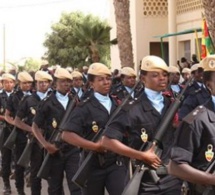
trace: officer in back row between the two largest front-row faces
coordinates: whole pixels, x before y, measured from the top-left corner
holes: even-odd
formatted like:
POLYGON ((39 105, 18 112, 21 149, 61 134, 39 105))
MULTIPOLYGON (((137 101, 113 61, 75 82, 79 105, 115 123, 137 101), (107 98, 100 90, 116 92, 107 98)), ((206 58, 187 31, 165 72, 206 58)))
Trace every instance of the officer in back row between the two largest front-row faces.
MULTIPOLYGON (((119 100, 123 100, 136 84, 136 72, 131 67, 123 67, 121 69, 121 83, 118 84, 112 91, 111 95, 116 96, 119 100)), ((131 98, 138 97, 141 89, 135 89, 131 94, 131 98)))

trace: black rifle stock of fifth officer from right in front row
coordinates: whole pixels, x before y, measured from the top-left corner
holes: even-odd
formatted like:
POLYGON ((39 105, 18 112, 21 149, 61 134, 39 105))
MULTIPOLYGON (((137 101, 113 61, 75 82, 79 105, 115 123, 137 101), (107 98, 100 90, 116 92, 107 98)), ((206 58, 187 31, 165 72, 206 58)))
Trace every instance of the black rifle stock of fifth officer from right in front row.
POLYGON ((22 167, 28 167, 30 159, 31 159, 31 152, 32 152, 32 147, 33 147, 33 141, 34 141, 34 137, 31 136, 30 138, 28 138, 28 142, 25 146, 25 149, 22 153, 22 155, 20 156, 17 164, 22 166, 22 167))

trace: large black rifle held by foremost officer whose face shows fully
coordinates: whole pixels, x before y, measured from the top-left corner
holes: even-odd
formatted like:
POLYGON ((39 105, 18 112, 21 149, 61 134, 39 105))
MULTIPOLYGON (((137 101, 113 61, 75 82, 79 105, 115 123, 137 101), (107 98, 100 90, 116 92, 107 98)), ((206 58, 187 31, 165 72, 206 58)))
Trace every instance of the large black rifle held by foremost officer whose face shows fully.
MULTIPOLYGON (((166 129, 168 128, 171 121, 173 120, 174 115, 177 112, 177 110, 181 104, 185 90, 190 85, 192 80, 193 79, 190 78, 187 81, 187 83, 185 84, 185 87, 183 88, 181 93, 175 98, 175 101, 170 105, 169 109, 165 113, 165 115, 162 119, 162 123, 160 123, 160 125, 158 126, 157 132, 155 134, 155 137, 154 137, 152 143, 155 145, 154 152, 159 157, 162 154, 162 150, 161 150, 160 146, 162 144, 163 135, 165 134, 166 129)), ((144 146, 145 146, 145 143, 142 144, 140 150, 142 150, 144 148, 144 146)), ((149 167, 144 166, 143 163, 140 163, 139 165, 137 165, 137 168, 135 169, 133 177, 130 179, 127 186, 125 187, 125 189, 122 193, 123 195, 130 195, 130 194, 136 195, 136 194, 138 194, 141 178, 142 178, 142 176, 146 170, 149 170, 149 174, 155 183, 157 183, 159 181, 160 178, 158 177, 155 170, 152 170, 149 167)), ((165 171, 165 168, 161 171, 165 171)))

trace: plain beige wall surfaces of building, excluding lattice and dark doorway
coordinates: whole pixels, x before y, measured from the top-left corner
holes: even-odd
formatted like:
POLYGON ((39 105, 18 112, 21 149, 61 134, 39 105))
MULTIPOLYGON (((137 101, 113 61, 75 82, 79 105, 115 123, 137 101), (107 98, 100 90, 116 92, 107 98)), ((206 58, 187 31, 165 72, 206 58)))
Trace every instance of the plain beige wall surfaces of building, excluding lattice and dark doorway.
MULTIPOLYGON (((114 18, 114 7, 113 0, 110 0, 111 13, 110 13, 110 25, 113 27, 111 37, 116 37, 116 25, 114 18)), ((171 8, 170 8, 171 9, 171 8)), ((184 31, 192 28, 201 27, 201 13, 202 10, 194 10, 189 13, 180 13, 176 17, 176 31, 184 31)), ((130 22, 131 22, 131 33, 132 33, 132 44, 134 53, 135 68, 138 67, 140 60, 150 54, 149 44, 150 42, 159 42, 159 38, 155 38, 156 35, 163 35, 170 33, 168 32, 168 17, 145 17, 143 15, 143 2, 141 0, 130 1, 130 22)), ((171 32, 172 33, 172 32, 171 32)), ((201 38, 201 33, 198 33, 198 37, 201 38)), ((184 41, 191 41, 191 54, 195 53, 195 33, 180 35, 176 37, 176 46, 174 47, 176 55, 172 62, 176 62, 184 56, 184 41)), ((171 41, 169 38, 165 38, 163 41, 171 41)), ((118 47, 114 46, 111 48, 111 67, 112 69, 120 68, 120 60, 118 47)))

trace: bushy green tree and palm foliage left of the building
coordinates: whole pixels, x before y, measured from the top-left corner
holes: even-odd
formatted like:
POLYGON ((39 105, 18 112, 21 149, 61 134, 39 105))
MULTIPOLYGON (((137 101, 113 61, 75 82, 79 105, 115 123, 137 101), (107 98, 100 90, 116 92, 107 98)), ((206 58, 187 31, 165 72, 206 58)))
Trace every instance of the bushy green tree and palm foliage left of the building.
POLYGON ((107 22, 81 12, 63 13, 51 28, 52 33, 46 35, 44 42, 50 64, 75 68, 96 58, 109 62, 111 28, 107 22))

